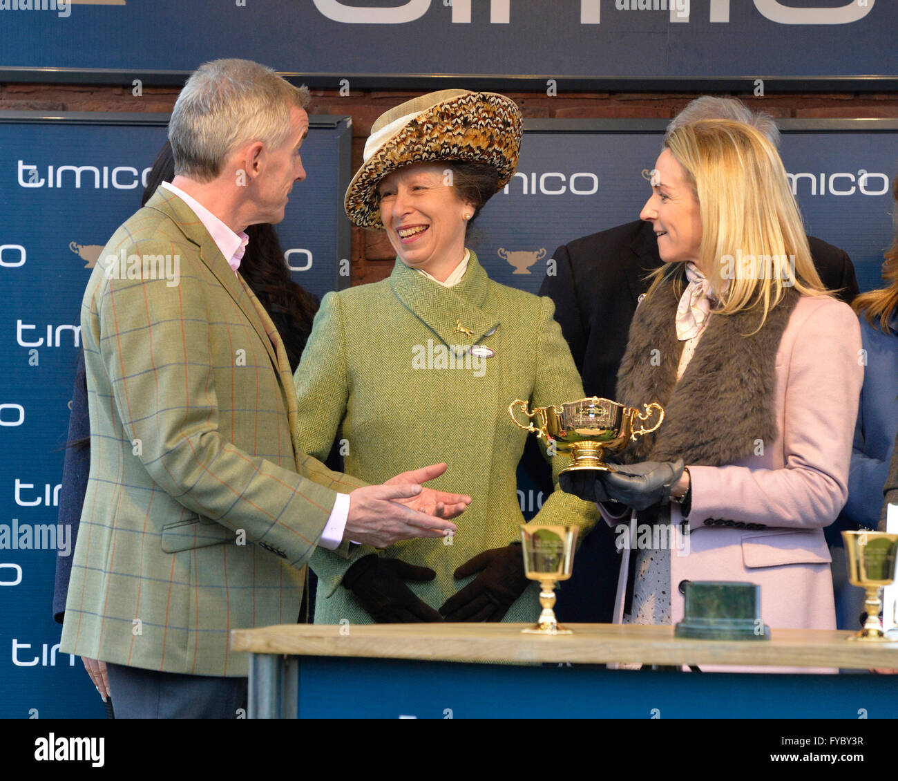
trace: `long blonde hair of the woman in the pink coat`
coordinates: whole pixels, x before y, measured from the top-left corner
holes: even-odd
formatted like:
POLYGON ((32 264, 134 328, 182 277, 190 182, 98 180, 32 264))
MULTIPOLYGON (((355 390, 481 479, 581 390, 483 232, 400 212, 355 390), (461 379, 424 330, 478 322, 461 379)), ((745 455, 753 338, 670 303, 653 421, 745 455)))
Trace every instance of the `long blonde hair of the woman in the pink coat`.
MULTIPOLYGON (((711 270, 715 314, 757 307, 760 330, 786 288, 828 293, 811 260, 786 169, 768 138, 743 122, 700 120, 669 132, 665 147, 699 202, 698 265, 711 270)), ((674 292, 681 295, 679 269, 674 264, 655 271, 649 294, 674 273, 674 292)))

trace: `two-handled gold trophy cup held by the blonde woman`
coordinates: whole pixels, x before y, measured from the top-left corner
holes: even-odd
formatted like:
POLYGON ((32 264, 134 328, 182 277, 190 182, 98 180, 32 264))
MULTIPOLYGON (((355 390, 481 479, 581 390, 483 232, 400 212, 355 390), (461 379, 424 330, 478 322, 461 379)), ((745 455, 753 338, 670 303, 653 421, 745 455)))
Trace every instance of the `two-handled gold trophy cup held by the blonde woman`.
POLYGON ((552 439, 559 450, 570 453, 570 466, 562 472, 578 469, 612 472, 614 467, 604 462, 605 450, 621 450, 628 442, 635 442, 643 434, 656 430, 665 420, 661 404, 643 404, 640 412, 635 407, 625 407, 598 396, 561 404, 560 410, 554 405, 534 407, 533 411, 527 407, 527 402, 515 399, 508 407, 508 414, 519 429, 533 431, 537 438, 552 439), (515 418, 518 408, 535 420, 535 424, 524 426, 518 422, 515 418), (642 423, 650 420, 655 413, 657 422, 646 428, 642 423), (635 427, 637 421, 640 422, 638 428, 635 427))

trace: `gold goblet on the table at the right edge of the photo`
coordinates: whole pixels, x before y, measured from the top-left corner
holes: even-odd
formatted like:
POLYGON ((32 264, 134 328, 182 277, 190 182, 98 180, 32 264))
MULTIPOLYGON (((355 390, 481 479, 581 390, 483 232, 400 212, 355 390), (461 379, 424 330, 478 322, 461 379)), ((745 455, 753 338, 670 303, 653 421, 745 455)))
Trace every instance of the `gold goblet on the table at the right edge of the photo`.
POLYGON ((882 592, 895 579, 895 563, 898 561, 898 534, 885 531, 843 531, 845 559, 848 563, 848 579, 853 586, 867 590, 864 607, 867 621, 863 628, 849 640, 894 642, 883 632, 879 623, 879 611, 883 608, 882 592))

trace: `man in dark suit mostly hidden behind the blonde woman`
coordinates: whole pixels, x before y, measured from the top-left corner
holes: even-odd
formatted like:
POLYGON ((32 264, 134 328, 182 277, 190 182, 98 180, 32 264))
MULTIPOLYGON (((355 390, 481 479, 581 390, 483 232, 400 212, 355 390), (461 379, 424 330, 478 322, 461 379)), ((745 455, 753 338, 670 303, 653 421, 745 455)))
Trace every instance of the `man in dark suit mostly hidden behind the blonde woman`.
MULTIPOLYGON (((667 129, 699 120, 746 122, 779 145, 779 130, 768 115, 749 111, 731 98, 702 96, 667 129)), ((814 236, 808 236, 808 243, 823 285, 850 304, 858 295, 858 280, 848 254, 814 236)), ((652 224, 635 220, 578 238, 562 244, 552 258, 556 274, 543 280, 540 295, 555 302, 555 319, 568 340, 586 395, 613 399, 629 322, 639 296, 648 289, 647 275, 662 265, 652 224)), ((612 530, 599 523, 577 553, 559 617, 610 622, 619 571, 612 530)))

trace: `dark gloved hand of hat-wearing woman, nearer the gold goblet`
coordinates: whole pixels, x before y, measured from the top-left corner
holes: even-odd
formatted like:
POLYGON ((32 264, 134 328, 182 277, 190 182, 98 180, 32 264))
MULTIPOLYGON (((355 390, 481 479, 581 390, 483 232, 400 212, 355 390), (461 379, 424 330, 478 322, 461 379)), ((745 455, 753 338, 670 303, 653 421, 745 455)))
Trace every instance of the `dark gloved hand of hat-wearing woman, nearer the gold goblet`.
POLYGON ((519 545, 490 548, 474 556, 455 570, 455 579, 474 572, 480 574, 440 608, 446 621, 501 621, 530 582, 519 545))

